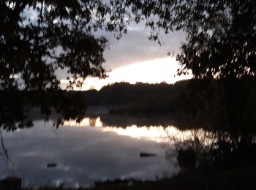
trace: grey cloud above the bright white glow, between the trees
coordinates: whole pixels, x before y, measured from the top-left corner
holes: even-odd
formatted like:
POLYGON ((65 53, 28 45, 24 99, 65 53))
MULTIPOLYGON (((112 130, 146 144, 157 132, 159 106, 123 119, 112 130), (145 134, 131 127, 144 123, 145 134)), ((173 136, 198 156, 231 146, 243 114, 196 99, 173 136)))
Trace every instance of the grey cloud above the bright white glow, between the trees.
POLYGON ((160 34, 162 46, 157 42, 148 40, 149 30, 129 30, 119 41, 110 37, 110 49, 105 50, 105 68, 115 69, 140 61, 148 61, 154 58, 165 58, 167 53, 176 52, 181 42, 184 41, 183 32, 173 34, 160 34))

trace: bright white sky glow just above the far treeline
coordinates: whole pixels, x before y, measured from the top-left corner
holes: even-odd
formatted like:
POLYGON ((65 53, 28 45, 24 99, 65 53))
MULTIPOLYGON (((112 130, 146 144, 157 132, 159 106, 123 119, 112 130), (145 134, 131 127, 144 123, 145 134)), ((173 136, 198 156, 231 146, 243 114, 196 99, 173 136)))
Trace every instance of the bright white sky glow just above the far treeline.
MULTIPOLYGON (((156 58, 150 61, 138 62, 121 66, 113 69, 108 73, 109 77, 99 80, 96 77, 88 77, 83 83, 82 91, 89 90, 91 86, 99 90, 102 86, 107 86, 116 82, 128 82, 135 84, 141 83, 176 83, 178 80, 186 80, 192 75, 178 76, 177 69, 181 66, 175 58, 156 58)), ((64 85, 68 83, 67 80, 61 80, 64 85)), ((76 89, 79 90, 79 89, 76 89)))

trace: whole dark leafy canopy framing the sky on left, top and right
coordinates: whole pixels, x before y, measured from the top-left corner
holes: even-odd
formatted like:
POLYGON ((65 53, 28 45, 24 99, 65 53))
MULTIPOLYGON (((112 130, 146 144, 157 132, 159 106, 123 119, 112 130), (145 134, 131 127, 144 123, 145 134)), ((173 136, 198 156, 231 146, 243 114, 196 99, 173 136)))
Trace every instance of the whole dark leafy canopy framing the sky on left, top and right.
POLYGON ((0 88, 59 88, 67 69, 71 86, 87 76, 106 77, 108 39, 97 31, 127 32, 131 21, 159 32, 185 31, 176 55, 196 78, 256 74, 256 2, 252 0, 70 0, 0 2, 0 88))

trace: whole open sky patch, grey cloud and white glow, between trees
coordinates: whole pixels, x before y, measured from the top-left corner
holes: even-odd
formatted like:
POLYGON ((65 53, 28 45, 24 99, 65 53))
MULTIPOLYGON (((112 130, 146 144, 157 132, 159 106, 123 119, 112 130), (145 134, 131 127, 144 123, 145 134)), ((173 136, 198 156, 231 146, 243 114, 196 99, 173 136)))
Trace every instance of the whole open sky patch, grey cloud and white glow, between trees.
MULTIPOLYGON (((176 76, 178 65, 176 58, 167 56, 167 53, 178 53, 181 42, 184 42, 183 32, 160 34, 162 45, 148 40, 150 30, 140 24, 131 24, 127 34, 117 40, 114 34, 102 33, 109 40, 109 48, 105 50, 104 68, 108 77, 104 80, 88 77, 81 90, 93 87, 97 90, 110 83, 175 83, 178 80, 189 79, 192 76, 176 76)), ((64 72, 63 72, 64 73, 64 72)), ((60 74, 61 87, 64 88, 68 81, 60 74)), ((77 90, 80 90, 78 88, 77 90)))

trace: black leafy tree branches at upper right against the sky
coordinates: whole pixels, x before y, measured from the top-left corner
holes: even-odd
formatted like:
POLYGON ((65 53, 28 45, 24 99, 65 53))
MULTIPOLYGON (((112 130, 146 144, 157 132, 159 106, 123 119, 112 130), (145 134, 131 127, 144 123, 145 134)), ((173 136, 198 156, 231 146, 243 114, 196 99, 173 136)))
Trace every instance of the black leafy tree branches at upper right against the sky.
POLYGON ((150 39, 159 31, 182 30, 187 40, 177 60, 196 78, 255 76, 256 2, 253 0, 129 0, 115 1, 130 7, 136 22, 146 20, 150 39))

